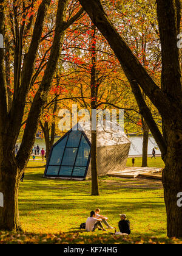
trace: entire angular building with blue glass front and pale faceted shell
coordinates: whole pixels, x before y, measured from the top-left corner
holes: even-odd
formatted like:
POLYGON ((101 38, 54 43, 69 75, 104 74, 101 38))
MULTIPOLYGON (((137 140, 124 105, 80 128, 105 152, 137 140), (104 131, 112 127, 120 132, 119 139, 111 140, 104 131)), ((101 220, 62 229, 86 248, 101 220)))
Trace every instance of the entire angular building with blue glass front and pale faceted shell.
MULTIPOLYGON (((55 143, 50 151, 44 177, 81 179, 91 177, 91 123, 78 123, 55 143), (76 128, 76 129, 75 129, 76 128)), ((126 167, 130 141, 121 127, 109 121, 97 127, 98 176, 126 167), (109 131, 107 127, 110 127, 109 131)))

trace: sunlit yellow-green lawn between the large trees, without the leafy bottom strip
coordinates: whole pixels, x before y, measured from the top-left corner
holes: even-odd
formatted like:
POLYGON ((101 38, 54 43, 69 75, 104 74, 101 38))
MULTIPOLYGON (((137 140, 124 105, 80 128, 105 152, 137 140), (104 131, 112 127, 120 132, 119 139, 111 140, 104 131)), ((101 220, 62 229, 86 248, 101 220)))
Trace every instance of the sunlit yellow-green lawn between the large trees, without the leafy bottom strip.
POLYGON ((19 210, 26 232, 78 230, 91 210, 101 208, 112 226, 126 213, 132 234, 166 236, 166 212, 161 182, 104 177, 101 196, 90 196, 91 182, 42 178, 44 164, 29 162, 19 191, 19 210))

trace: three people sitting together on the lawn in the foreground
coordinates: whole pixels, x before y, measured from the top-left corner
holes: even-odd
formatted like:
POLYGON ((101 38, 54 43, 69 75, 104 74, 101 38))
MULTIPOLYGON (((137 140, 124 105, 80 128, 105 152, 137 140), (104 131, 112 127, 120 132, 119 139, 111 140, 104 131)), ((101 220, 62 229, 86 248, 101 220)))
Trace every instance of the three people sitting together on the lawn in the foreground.
MULTIPOLYGON (((104 229, 103 224, 106 226, 107 229, 115 229, 114 227, 109 225, 109 223, 107 222, 108 218, 106 216, 99 214, 100 212, 101 210, 99 208, 96 208, 95 211, 90 212, 90 217, 87 218, 86 221, 86 230, 88 232, 93 232, 96 229, 106 231, 106 229, 104 229)), ((130 221, 126 219, 125 214, 121 214, 120 219, 120 222, 118 222, 120 232, 124 235, 130 235, 130 221)))

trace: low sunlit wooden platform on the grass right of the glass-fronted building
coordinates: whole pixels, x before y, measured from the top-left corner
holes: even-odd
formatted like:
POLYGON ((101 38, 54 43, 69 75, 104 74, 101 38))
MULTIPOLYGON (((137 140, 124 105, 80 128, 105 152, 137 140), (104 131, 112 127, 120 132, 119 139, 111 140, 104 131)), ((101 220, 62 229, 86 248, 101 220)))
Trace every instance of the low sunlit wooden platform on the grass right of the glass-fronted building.
POLYGON ((108 174, 112 177, 122 177, 122 178, 150 178, 150 179, 162 179, 161 168, 146 168, 146 167, 127 167, 124 171, 118 171, 113 174, 108 174))

